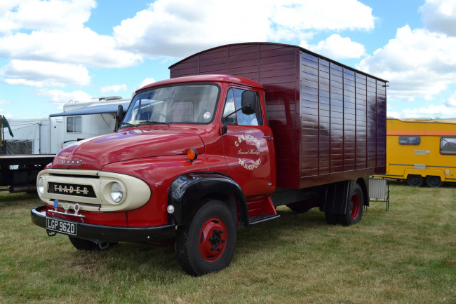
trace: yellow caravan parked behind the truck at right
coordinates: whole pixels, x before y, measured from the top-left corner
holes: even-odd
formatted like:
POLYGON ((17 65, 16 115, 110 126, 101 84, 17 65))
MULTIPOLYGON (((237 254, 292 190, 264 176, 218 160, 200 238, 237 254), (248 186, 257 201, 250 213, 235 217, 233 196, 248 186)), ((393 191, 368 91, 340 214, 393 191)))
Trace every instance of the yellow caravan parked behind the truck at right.
POLYGON ((387 118, 387 172, 410 186, 456 181, 456 119, 387 118))

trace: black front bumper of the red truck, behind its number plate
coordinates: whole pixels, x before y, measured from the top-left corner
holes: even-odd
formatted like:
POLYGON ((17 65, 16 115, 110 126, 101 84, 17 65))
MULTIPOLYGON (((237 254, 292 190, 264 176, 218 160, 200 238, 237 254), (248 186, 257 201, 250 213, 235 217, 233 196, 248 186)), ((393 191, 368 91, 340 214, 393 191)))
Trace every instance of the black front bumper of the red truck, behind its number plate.
MULTIPOLYGON (((31 210, 32 223, 36 226, 46 228, 47 219, 58 219, 46 216, 46 207, 40 206, 31 210)), ((102 240, 109 242, 157 242, 170 240, 175 237, 175 225, 164 225, 154 227, 116 227, 101 226, 88 223, 77 223, 77 235, 86 240, 102 240)), ((66 233, 62 233, 66 234, 66 233)))

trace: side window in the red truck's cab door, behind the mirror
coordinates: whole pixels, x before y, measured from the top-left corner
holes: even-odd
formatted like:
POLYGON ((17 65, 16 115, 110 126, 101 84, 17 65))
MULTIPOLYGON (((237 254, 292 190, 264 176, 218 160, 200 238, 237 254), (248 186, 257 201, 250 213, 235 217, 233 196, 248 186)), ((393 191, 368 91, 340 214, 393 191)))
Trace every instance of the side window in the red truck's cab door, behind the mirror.
POLYGON ((227 99, 225 100, 225 106, 223 111, 223 119, 229 125, 263 125, 263 120, 261 116, 261 107, 260 107, 260 98, 257 96, 257 106, 256 111, 253 114, 246 115, 241 111, 228 116, 230 113, 233 113, 237 109, 241 108, 241 97, 242 92, 245 90, 238 88, 231 88, 228 91, 227 99))

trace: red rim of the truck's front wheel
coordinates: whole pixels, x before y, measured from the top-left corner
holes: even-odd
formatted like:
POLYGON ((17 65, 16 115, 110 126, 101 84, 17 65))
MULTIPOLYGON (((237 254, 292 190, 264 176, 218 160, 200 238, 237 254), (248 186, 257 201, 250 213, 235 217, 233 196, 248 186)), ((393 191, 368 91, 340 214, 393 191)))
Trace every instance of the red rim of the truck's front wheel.
POLYGON ((227 227, 222 219, 211 217, 204 223, 199 234, 199 252, 208 262, 217 261, 227 244, 227 227))

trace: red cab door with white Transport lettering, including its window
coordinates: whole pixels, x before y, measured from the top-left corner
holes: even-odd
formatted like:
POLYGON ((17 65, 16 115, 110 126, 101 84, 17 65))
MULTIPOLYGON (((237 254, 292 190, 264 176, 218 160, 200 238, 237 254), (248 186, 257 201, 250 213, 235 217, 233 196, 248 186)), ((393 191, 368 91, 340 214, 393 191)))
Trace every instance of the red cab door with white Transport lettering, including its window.
POLYGON ((225 99, 222 123, 227 131, 222 135, 228 174, 241 186, 246 198, 269 195, 276 187, 276 159, 271 128, 265 123, 266 111, 260 95, 255 92, 255 113, 241 109, 243 88, 229 88, 225 99), (229 115, 231 114, 231 115, 229 115))

